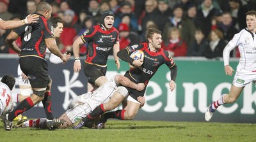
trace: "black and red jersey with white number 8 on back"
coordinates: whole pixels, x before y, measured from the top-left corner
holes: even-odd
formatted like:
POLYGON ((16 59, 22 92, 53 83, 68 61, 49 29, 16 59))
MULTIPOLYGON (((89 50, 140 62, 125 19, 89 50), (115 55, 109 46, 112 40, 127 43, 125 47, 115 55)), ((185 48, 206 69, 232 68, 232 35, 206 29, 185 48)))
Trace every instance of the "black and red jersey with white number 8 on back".
POLYGON ((20 57, 26 55, 36 55, 45 58, 46 44, 45 39, 54 38, 52 23, 47 19, 36 13, 39 20, 34 24, 25 24, 21 27, 13 29, 22 41, 20 57))

